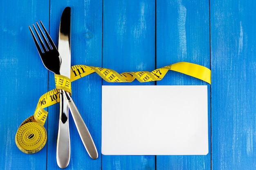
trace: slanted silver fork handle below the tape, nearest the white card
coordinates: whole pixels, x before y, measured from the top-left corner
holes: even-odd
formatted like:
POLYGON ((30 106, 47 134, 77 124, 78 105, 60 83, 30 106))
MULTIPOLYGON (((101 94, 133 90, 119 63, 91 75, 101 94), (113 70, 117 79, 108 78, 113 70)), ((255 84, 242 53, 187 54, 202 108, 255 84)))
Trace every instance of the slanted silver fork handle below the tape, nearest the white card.
POLYGON ((97 148, 94 144, 94 141, 92 139, 92 136, 87 126, 85 125, 85 122, 83 121, 83 118, 79 113, 79 110, 77 109, 72 97, 67 92, 65 92, 65 97, 67 100, 67 105, 70 108, 71 115, 74 119, 76 129, 78 130, 80 138, 83 142, 83 146, 85 147, 86 151, 88 152, 88 155, 92 159, 97 159, 98 158, 97 148))

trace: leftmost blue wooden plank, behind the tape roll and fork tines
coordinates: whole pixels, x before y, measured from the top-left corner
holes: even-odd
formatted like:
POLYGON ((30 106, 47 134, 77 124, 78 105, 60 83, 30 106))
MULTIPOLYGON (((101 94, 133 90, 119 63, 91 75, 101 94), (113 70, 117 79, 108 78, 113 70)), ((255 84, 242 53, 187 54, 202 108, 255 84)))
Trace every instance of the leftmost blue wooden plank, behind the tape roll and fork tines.
POLYGON ((18 127, 34 114, 40 95, 47 91, 47 71, 28 25, 42 19, 48 26, 49 2, 27 4, 31 2, 0 2, 0 169, 5 170, 46 169, 46 147, 27 155, 15 144, 18 127))

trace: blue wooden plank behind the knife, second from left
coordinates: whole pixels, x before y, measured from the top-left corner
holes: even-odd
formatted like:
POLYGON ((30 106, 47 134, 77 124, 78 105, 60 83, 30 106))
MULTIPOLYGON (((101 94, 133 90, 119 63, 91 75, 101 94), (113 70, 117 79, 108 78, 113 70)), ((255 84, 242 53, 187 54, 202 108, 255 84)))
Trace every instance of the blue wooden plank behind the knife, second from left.
MULTIPOLYGON (((102 1, 51 1, 50 33, 58 42, 58 28, 65 7, 71 7, 71 57, 72 65, 101 66, 102 54, 102 1)), ((49 88, 54 88, 53 74, 49 88), (52 81, 51 81, 52 80, 52 81)), ((101 169, 101 77, 92 74, 72 82, 72 97, 99 152, 98 159, 91 159, 86 152, 70 115, 71 158, 66 169, 101 169)), ((56 138, 58 132, 59 104, 49 112, 49 142, 47 168, 56 169, 56 138)))

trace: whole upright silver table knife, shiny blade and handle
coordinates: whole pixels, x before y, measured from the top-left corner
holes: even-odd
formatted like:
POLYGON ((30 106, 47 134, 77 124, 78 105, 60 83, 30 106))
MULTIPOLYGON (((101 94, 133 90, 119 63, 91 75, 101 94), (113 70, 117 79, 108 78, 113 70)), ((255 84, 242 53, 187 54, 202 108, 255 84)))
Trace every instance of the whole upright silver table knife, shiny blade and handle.
MULTIPOLYGON (((58 36, 58 52, 61 56, 60 74, 70 78, 70 7, 66 7, 61 15, 58 36)), ((60 117, 56 147, 56 161, 60 168, 66 168, 70 162, 70 130, 69 108, 64 90, 60 90, 60 117)))

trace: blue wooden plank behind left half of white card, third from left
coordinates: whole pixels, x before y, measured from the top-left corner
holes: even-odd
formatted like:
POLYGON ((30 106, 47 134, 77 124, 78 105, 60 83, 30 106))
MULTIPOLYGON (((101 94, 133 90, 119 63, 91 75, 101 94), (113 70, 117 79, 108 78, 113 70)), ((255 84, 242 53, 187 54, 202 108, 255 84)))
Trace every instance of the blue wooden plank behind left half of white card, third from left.
MULTIPOLYGON (((155 0, 103 1, 103 67, 118 73, 155 68, 155 0)), ((124 84, 155 83, 115 85, 124 84)), ((131 169, 155 169, 155 156, 102 155, 102 170, 131 169)))

